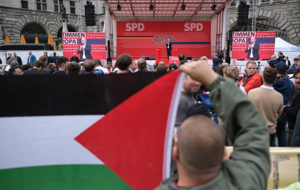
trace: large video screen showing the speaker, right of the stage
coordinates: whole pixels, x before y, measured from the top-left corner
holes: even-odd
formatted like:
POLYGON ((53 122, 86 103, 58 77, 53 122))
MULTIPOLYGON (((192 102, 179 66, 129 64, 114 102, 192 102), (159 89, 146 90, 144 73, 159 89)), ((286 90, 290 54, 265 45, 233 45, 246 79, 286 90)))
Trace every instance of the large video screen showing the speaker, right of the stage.
POLYGON ((275 51, 275 37, 276 31, 233 32, 232 59, 269 59, 275 51))

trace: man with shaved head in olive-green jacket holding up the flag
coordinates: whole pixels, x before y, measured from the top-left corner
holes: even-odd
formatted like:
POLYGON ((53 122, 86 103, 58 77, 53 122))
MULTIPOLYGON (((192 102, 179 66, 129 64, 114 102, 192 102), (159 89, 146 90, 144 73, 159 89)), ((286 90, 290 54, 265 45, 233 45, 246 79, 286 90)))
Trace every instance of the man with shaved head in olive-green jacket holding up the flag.
POLYGON ((186 119, 173 147, 178 175, 156 190, 264 190, 270 173, 269 132, 255 105, 232 79, 218 77, 202 60, 179 67, 210 91, 211 102, 227 126, 234 150, 223 160, 224 136, 211 120, 186 119))

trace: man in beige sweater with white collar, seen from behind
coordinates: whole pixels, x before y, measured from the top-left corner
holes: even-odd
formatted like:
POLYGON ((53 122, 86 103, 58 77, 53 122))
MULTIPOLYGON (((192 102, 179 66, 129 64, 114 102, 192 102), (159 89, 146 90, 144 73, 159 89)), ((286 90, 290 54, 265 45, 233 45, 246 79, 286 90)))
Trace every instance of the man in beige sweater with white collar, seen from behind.
POLYGON ((277 119, 283 111, 283 96, 273 88, 276 76, 277 72, 274 68, 266 68, 263 72, 263 84, 248 93, 248 97, 268 123, 270 145, 275 139, 277 119))

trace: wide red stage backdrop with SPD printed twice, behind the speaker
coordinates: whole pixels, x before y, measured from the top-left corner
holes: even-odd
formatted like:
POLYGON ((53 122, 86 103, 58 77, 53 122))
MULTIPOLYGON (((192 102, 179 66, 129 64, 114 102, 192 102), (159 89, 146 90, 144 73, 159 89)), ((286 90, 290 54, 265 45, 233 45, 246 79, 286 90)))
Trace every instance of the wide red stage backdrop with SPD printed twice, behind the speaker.
MULTIPOLYGON (((210 56, 210 21, 119 21, 117 22, 117 53, 133 57, 167 56, 167 39, 177 54, 210 56)), ((173 53, 173 52, 172 52, 173 53)), ((173 55, 172 56, 178 56, 173 55)))

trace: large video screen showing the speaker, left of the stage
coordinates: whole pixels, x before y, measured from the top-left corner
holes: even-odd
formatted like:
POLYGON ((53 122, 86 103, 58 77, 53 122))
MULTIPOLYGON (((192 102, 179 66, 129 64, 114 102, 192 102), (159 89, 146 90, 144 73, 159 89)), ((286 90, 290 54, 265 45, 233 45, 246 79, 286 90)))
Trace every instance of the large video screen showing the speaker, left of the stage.
POLYGON ((103 32, 63 32, 64 56, 71 58, 73 53, 79 60, 84 59, 106 59, 105 33, 103 32), (84 44, 82 39, 86 39, 84 50, 80 46, 84 44), (84 55, 83 55, 84 51, 84 55))

